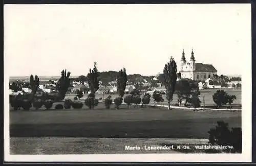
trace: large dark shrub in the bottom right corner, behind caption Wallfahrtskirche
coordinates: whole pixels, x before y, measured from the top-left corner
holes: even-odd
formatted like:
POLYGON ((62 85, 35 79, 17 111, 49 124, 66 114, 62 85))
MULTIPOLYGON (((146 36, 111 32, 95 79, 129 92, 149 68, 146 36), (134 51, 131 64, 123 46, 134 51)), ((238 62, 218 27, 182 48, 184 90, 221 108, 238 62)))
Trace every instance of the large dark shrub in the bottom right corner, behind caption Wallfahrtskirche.
POLYGON ((231 128, 228 123, 218 121, 215 129, 210 129, 209 143, 212 145, 232 146, 233 149, 225 149, 224 152, 242 153, 242 130, 241 128, 231 128))

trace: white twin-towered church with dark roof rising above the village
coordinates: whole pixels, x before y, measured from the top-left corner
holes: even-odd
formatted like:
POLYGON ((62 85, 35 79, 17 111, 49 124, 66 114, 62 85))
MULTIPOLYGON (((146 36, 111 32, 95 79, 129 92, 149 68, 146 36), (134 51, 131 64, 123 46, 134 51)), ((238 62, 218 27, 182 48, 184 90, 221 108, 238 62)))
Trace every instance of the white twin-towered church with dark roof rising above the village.
POLYGON ((189 61, 186 61, 184 50, 182 52, 180 74, 181 78, 204 81, 217 75, 217 70, 211 64, 196 63, 192 49, 189 61))

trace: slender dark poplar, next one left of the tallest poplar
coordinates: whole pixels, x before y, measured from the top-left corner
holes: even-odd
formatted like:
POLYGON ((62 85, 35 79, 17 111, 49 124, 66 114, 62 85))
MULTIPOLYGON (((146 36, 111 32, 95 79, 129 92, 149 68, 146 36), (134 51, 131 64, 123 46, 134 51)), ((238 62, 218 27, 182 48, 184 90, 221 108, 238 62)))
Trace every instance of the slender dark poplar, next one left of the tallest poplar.
POLYGON ((117 92, 120 98, 123 98, 124 96, 124 90, 126 87, 127 83, 127 75, 126 75, 126 70, 123 68, 118 72, 117 76, 117 92))

